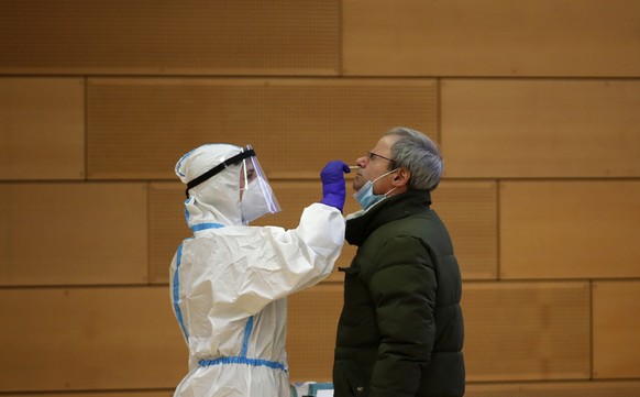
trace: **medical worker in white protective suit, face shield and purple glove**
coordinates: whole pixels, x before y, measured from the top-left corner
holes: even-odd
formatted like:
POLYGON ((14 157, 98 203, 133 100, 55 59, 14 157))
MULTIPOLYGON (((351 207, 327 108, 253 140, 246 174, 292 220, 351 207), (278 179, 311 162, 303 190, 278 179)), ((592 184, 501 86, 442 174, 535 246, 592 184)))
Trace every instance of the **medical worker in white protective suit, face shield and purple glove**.
POLYGON ((280 210, 251 146, 208 144, 184 155, 194 238, 170 265, 170 298, 189 348, 175 396, 289 396, 286 296, 328 276, 342 250, 344 174, 322 169, 323 198, 296 229, 250 227, 280 210))

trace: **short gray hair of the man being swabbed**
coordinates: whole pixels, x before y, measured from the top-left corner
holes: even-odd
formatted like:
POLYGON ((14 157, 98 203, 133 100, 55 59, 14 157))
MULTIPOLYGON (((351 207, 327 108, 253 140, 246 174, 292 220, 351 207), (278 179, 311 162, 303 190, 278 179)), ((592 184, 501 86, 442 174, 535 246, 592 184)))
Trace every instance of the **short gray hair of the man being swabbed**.
POLYGON ((435 189, 443 169, 442 154, 438 144, 423 133, 404 126, 396 126, 385 135, 398 136, 391 146, 391 158, 395 168, 406 167, 411 173, 409 189, 435 189))

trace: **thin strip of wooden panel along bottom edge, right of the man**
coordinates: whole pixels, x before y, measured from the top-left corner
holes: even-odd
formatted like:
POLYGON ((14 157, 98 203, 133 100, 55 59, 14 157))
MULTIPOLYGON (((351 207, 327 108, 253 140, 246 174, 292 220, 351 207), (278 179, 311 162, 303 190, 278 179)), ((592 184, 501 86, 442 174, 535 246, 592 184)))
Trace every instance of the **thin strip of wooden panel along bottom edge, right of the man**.
POLYGON ((637 397, 640 382, 467 384, 465 397, 637 397))

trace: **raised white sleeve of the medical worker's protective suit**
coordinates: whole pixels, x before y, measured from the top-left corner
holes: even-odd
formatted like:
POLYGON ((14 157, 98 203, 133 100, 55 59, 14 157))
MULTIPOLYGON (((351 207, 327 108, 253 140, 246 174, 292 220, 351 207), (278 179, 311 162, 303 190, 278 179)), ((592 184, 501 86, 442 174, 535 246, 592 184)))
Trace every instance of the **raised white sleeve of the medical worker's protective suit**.
MULTIPOLYGON (((298 228, 228 227, 219 250, 197 255, 220 262, 225 255, 212 301, 231 316, 254 315, 269 302, 310 287, 327 277, 344 242, 340 210, 321 203, 305 209, 298 228), (220 279, 222 278, 222 279, 220 279)), ((203 280, 205 282, 205 280, 203 280)), ((213 288, 212 288, 213 289, 213 288)), ((230 319, 231 320, 231 319, 230 319)))

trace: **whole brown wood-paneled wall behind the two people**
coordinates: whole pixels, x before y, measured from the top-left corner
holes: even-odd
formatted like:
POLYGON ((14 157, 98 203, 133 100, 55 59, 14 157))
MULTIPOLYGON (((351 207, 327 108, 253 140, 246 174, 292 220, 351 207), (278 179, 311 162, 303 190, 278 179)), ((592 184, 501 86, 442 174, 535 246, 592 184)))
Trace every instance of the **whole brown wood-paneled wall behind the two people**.
MULTIPOLYGON (((0 0, 0 394, 172 395, 187 151, 252 143, 260 222, 293 228, 407 125, 444 154, 467 396, 638 396, 639 27, 638 0, 0 0)), ((330 381, 341 282, 289 300, 293 382, 330 381)))

